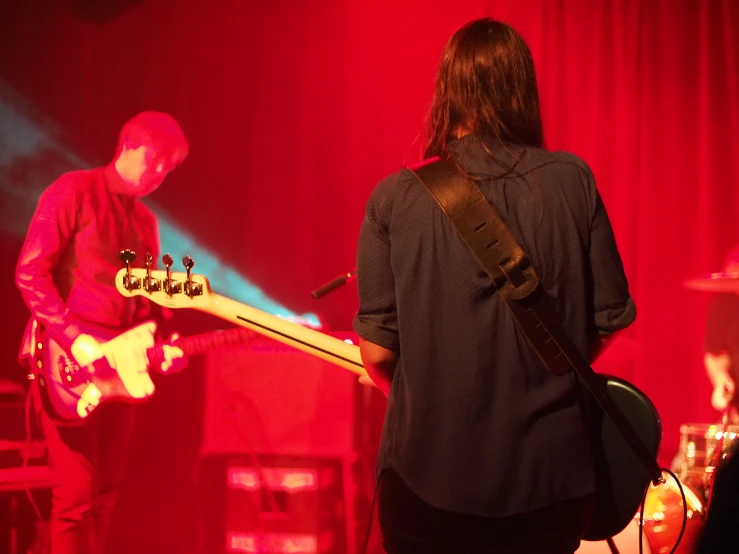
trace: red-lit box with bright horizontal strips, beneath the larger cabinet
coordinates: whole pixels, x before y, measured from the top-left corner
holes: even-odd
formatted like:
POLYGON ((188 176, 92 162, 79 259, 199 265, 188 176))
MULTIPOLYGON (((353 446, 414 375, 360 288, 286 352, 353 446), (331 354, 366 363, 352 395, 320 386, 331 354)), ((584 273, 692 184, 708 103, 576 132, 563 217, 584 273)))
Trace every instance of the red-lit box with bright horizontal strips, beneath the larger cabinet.
POLYGON ((338 459, 284 456, 204 459, 198 489, 206 551, 212 554, 354 552, 353 485, 346 469, 338 459))

